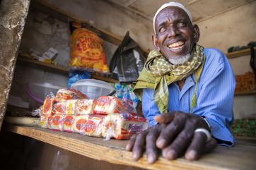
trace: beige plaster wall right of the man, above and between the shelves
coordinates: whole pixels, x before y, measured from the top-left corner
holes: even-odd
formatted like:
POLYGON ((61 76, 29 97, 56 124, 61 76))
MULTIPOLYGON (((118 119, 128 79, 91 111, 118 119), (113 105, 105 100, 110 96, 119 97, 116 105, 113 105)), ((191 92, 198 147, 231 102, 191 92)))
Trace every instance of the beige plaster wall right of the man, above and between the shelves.
MULTIPOLYGON (((244 46, 256 41, 256 1, 235 8, 214 18, 197 23, 201 37, 199 43, 204 47, 216 47, 227 52, 228 47, 244 46)), ((235 75, 252 71, 250 55, 230 59, 235 75)), ((256 114, 256 96, 235 96, 234 116, 240 119, 256 114)))

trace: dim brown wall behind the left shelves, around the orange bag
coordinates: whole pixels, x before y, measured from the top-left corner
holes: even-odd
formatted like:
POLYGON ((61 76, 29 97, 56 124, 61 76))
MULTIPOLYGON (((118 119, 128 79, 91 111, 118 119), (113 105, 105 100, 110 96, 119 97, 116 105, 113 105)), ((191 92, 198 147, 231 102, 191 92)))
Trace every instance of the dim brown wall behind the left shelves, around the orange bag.
MULTIPOLYGON (((42 55, 44 51, 53 47, 58 51, 54 61, 57 61, 57 64, 60 66, 68 67, 70 53, 69 37, 70 32, 67 23, 52 18, 30 6, 19 51, 25 53, 37 51, 38 54, 42 55)), ((104 42, 104 49, 107 63, 110 63, 117 46, 104 42)), ((11 95, 21 97, 24 102, 29 102, 30 100, 26 92, 28 83, 50 83, 66 87, 67 80, 68 75, 17 64, 11 86, 11 95)))

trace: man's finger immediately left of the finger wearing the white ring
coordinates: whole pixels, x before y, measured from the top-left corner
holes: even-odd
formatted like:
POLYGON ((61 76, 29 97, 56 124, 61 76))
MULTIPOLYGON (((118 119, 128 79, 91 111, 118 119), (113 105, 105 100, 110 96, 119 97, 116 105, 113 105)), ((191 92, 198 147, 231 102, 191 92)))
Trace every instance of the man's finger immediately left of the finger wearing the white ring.
POLYGON ((193 123, 187 123, 184 130, 175 138, 173 143, 163 149, 163 157, 169 160, 176 159, 190 145, 190 140, 194 134, 193 123))

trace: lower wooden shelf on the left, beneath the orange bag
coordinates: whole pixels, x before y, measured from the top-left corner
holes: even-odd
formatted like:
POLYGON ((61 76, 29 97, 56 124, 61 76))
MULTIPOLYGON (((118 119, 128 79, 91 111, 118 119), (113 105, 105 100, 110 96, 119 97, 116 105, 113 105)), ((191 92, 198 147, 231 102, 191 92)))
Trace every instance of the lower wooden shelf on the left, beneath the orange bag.
MULTIPOLYGON (((53 71, 55 73, 61 73, 64 75, 69 75, 69 68, 65 68, 63 66, 57 66, 54 64, 50 64, 50 63, 44 63, 42 61, 37 61, 37 60, 33 60, 33 59, 29 59, 32 58, 30 55, 28 54, 22 54, 18 56, 18 63, 21 63, 23 66, 30 66, 30 67, 35 67, 35 68, 40 68, 43 69, 45 71, 53 71), (25 58, 27 57, 27 58, 25 58)), ((92 73, 91 78, 94 79, 98 79, 98 80, 103 80, 106 81, 108 83, 119 83, 118 80, 112 79, 112 78, 107 78, 103 75, 99 75, 98 73, 92 73)))

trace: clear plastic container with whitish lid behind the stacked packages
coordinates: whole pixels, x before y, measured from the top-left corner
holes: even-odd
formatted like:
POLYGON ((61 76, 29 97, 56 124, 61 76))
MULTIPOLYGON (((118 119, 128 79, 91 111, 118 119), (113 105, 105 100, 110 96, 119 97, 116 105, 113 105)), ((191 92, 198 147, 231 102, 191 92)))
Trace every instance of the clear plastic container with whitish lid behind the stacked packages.
POLYGON ((109 83, 95 79, 81 79, 71 85, 71 89, 79 90, 90 99, 110 95, 115 89, 109 83))

